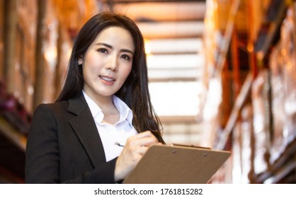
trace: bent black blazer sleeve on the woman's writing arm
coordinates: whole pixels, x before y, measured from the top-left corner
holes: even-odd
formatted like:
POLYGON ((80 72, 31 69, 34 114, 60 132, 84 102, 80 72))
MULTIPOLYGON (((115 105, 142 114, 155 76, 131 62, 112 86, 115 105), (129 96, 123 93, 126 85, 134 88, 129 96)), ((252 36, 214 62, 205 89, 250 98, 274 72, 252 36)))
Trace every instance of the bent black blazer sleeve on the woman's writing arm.
POLYGON ((42 104, 36 108, 25 155, 26 183, 115 183, 117 158, 72 180, 61 181, 57 122, 50 105, 42 104))

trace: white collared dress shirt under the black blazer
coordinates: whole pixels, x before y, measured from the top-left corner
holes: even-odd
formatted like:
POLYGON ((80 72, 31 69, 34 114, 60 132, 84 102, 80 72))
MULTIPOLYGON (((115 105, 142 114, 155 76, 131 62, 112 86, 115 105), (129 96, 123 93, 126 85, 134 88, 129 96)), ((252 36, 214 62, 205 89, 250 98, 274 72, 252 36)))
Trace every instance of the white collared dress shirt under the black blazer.
POLYGON ((120 119, 115 124, 103 122, 103 112, 98 105, 87 95, 84 91, 84 98, 86 103, 91 109, 91 115, 96 122, 98 134, 104 147, 106 161, 116 158, 123 151, 123 146, 118 146, 115 142, 125 143, 128 137, 137 134, 137 131, 132 126, 132 110, 120 100, 117 96, 113 95, 113 104, 118 109, 120 119))

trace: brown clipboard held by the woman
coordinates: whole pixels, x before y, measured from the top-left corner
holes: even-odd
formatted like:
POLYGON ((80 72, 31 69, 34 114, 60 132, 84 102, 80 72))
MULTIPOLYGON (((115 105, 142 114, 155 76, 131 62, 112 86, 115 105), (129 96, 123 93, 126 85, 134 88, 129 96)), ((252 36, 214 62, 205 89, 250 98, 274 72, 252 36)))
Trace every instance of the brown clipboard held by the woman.
POLYGON ((206 184, 230 155, 195 146, 151 146, 123 184, 206 184))

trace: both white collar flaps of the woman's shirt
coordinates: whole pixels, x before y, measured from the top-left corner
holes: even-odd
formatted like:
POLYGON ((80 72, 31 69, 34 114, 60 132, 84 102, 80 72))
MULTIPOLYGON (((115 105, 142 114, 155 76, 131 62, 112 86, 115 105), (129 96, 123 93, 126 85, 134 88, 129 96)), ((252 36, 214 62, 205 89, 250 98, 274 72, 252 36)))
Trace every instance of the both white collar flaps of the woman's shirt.
MULTIPOLYGON (((103 112, 101 108, 87 95, 84 91, 82 91, 84 94, 84 98, 86 100, 86 103, 89 105, 89 109, 91 110, 91 115, 93 115, 93 118, 99 123, 103 121, 103 112)), ((123 100, 120 100, 116 95, 113 95, 113 103, 115 107, 118 109, 120 113, 120 119, 118 122, 122 122, 123 120, 127 120, 129 124, 132 126, 132 110, 130 110, 130 107, 128 107, 123 100)))

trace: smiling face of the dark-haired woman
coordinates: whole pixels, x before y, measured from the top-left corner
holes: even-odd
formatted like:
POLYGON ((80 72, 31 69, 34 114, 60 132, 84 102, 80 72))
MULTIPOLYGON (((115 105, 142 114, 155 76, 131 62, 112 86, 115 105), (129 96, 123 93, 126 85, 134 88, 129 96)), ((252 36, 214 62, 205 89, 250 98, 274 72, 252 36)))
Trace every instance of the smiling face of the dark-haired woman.
POLYGON ((116 93, 132 70, 134 52, 132 35, 124 28, 101 31, 82 58, 86 94, 95 99, 116 93))

